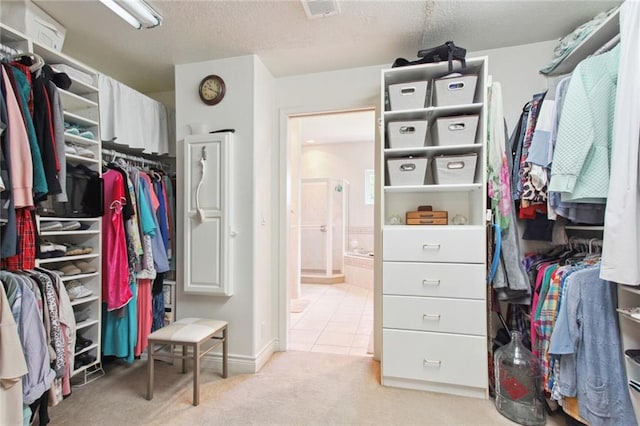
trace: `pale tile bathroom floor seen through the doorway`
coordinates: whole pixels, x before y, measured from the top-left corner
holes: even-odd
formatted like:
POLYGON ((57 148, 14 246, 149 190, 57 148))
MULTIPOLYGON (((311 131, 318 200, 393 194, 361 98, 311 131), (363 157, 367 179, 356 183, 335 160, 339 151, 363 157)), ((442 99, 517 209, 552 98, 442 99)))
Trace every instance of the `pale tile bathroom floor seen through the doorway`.
POLYGON ((289 350, 372 356, 373 291, 351 284, 302 284, 309 304, 289 314, 289 350))

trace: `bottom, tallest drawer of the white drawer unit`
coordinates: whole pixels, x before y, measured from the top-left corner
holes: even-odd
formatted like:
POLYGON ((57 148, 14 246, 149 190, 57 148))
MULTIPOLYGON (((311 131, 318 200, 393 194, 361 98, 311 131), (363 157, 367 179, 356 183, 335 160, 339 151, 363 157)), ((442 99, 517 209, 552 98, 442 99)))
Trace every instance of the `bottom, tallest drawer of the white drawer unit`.
POLYGON ((480 336, 384 330, 382 375, 469 388, 487 386, 487 342, 480 336))

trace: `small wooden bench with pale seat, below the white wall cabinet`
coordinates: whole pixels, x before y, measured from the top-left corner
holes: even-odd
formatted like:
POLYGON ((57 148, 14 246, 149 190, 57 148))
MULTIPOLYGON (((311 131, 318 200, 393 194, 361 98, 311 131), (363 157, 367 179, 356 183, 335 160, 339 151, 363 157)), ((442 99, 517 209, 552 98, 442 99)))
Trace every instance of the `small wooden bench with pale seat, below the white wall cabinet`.
MULTIPOLYGON (((149 334, 147 348, 147 399, 153 398, 153 360, 157 352, 155 345, 182 346, 182 356, 173 353, 170 358, 182 359, 182 373, 186 373, 186 359, 193 358, 193 405, 200 403, 200 358, 222 344, 222 377, 227 377, 227 322, 204 318, 184 318, 149 334), (204 349, 207 341, 215 343, 204 349), (191 347, 191 354, 188 348, 191 347), (204 349, 204 350, 203 350, 204 349)), ((162 357, 166 357, 162 354, 162 357)))

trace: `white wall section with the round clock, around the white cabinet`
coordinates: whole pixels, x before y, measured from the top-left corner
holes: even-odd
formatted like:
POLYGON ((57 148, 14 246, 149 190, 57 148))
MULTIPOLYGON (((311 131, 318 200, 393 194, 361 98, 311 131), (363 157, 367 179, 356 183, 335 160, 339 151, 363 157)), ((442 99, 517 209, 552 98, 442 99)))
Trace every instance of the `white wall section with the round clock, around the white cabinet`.
MULTIPOLYGON (((269 256, 271 216, 267 201, 271 188, 268 183, 256 188, 256 182, 271 180, 273 80, 253 55, 176 65, 175 75, 178 152, 181 151, 181 141, 189 133, 189 123, 203 123, 209 129, 235 129, 235 158, 232 165, 235 191, 232 200, 235 229, 238 232, 235 237, 235 264, 232 265, 234 295, 186 295, 178 286, 177 316, 203 316, 228 321, 231 366, 234 367, 235 360, 236 366, 245 365, 251 371, 259 368, 259 362, 256 361, 258 348, 266 339, 260 336, 261 329, 256 329, 256 324, 262 326, 264 321, 264 326, 268 328, 270 323, 265 317, 273 316, 270 311, 273 297, 270 295, 272 286, 269 279, 272 263, 269 256), (226 96, 218 105, 207 106, 200 101, 197 88, 201 79, 212 73, 224 79, 226 96), (262 193, 257 196, 259 191, 262 193), (260 260, 256 261, 254 255, 257 256, 260 250, 266 252, 259 253, 260 260)), ((180 164, 178 172, 181 172, 180 164)), ((184 211, 180 205, 181 199, 179 192, 178 211, 184 211)), ((182 226, 179 225, 179 243, 182 232, 182 226)), ((182 262, 178 262, 178 283, 182 268, 182 262)))

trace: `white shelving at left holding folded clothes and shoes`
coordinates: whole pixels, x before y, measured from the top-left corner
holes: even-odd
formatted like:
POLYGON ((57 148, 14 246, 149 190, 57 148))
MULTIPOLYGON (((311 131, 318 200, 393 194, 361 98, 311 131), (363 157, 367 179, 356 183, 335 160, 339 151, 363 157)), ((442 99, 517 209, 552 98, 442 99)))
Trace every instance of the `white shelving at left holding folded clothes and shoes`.
MULTIPOLYGON (((83 127, 93 133, 94 139, 65 133, 65 143, 82 146, 93 153, 93 158, 85 156, 66 154, 65 160, 68 164, 84 164, 90 169, 101 173, 101 143, 99 140, 99 110, 98 110, 98 87, 97 71, 87 67, 81 62, 69 56, 53 50, 47 46, 38 44, 26 35, 16 31, 7 25, 0 23, 0 41, 7 46, 13 47, 23 53, 35 53, 41 56, 49 64, 64 64, 78 71, 93 76, 95 84, 87 84, 79 81, 74 76, 69 75, 71 86, 66 89, 59 89, 60 98, 64 108, 64 119, 66 122, 83 127)), ((65 182, 61 182, 65 185, 65 182)), ((76 368, 75 357, 72 362, 72 376, 74 382, 86 384, 104 374, 101 366, 101 313, 102 313, 102 219, 94 217, 45 217, 37 216, 38 228, 47 222, 60 222, 63 225, 71 221, 78 221, 86 229, 72 231, 40 231, 41 238, 54 244, 68 244, 83 247, 90 247, 91 253, 60 256, 37 259, 37 266, 56 270, 63 264, 74 261, 84 261, 96 269, 96 272, 81 273, 77 275, 64 275, 62 282, 68 285, 70 281, 77 280, 92 294, 88 297, 75 299, 71 302, 74 312, 87 309, 88 318, 76 324, 76 336, 82 336, 91 340, 91 344, 75 353, 75 357, 84 353, 90 353, 95 360, 93 362, 78 365, 76 368), (79 379, 79 380, 78 380, 79 379)))

